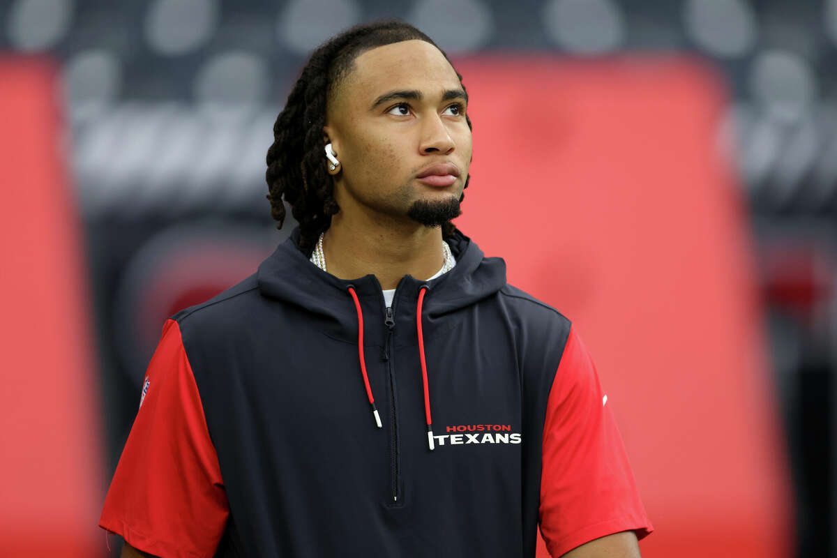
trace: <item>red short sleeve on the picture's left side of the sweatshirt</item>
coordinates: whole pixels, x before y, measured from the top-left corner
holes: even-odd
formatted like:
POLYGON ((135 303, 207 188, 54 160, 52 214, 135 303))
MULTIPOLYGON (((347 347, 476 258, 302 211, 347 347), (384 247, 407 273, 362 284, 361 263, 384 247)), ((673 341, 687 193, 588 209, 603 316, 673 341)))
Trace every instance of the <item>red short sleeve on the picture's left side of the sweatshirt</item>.
POLYGON ((180 327, 167 320, 99 526, 152 555, 212 556, 229 514, 180 327))

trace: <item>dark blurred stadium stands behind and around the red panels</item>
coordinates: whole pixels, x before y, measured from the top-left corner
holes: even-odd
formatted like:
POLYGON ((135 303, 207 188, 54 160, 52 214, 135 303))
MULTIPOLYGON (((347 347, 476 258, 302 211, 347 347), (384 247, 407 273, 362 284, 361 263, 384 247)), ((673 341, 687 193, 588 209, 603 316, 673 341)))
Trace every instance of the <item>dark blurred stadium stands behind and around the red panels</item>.
MULTIPOLYGON (((417 24, 457 59, 509 51, 578 60, 688 54, 725 76, 732 102, 716 148, 741 177, 757 240, 798 555, 833 553, 835 0, 0 2, 0 49, 48 55, 64 80, 109 470, 162 316, 234 282, 293 226, 277 232, 270 221, 264 155, 306 54, 341 28, 387 16, 417 24), (224 273, 219 257, 233 262, 221 266, 224 273)), ((475 138, 479 131, 477 123, 475 138)))

